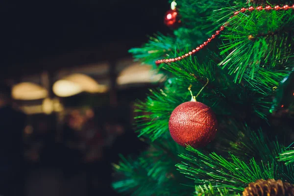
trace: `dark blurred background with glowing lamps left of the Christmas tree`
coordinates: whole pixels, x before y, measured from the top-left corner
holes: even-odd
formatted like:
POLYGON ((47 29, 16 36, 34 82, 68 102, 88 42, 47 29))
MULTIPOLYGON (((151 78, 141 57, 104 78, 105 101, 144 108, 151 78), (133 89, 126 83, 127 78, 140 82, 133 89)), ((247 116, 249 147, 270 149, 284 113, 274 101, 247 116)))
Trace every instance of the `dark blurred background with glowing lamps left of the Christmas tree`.
POLYGON ((0 195, 119 195, 111 163, 146 148, 134 102, 162 77, 128 49, 168 32, 169 6, 1 1, 0 195))

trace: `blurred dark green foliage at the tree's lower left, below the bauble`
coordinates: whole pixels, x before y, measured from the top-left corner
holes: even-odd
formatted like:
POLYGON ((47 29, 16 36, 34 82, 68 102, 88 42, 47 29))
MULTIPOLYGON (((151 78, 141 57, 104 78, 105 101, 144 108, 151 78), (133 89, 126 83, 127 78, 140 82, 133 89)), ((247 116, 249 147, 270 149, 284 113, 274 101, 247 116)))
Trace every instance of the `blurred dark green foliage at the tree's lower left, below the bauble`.
POLYGON ((122 157, 119 165, 115 165, 117 174, 123 179, 113 183, 119 192, 131 193, 132 196, 187 196, 193 192, 193 185, 176 171, 174 163, 180 161, 177 153, 183 152, 169 139, 160 139, 136 159, 122 157), (180 183, 190 186, 178 186, 180 183))

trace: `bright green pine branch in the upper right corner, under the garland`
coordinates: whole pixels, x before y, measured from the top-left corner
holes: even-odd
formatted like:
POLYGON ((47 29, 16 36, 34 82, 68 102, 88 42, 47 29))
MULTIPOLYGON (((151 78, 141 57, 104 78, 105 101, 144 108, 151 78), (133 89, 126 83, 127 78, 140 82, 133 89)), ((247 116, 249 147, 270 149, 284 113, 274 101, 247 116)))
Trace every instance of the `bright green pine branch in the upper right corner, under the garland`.
POLYGON ((245 73, 254 79, 255 74, 260 74, 264 69, 269 71, 293 68, 292 10, 240 13, 229 20, 229 23, 221 34, 223 44, 220 54, 224 58, 219 65, 228 69, 229 74, 235 75, 235 82, 241 82, 245 73))

